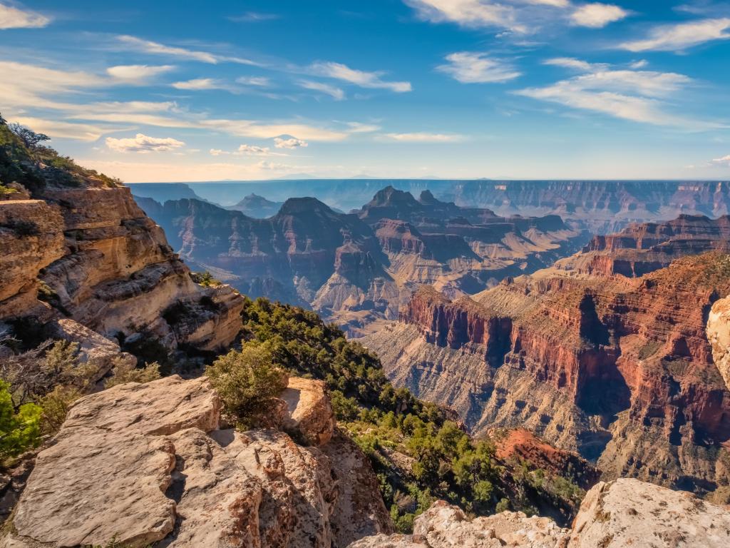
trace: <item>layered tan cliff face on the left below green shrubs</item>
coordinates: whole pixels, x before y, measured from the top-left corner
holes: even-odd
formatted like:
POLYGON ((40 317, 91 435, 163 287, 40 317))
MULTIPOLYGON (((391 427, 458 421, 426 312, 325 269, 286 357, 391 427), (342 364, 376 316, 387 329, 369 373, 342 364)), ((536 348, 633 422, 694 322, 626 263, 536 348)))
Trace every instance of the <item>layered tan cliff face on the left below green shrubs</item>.
POLYGON ((234 340, 242 297, 194 283, 129 189, 90 179, 35 196, 0 202, 0 321, 66 317, 107 338, 144 331, 169 349, 234 340), (53 308, 37 300, 39 283, 53 308))

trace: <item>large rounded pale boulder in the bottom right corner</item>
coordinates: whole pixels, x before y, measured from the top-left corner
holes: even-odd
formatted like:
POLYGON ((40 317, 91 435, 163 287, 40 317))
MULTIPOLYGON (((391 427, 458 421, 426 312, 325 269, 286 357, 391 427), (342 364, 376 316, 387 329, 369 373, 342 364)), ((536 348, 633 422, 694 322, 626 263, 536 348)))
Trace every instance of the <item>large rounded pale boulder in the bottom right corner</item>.
POLYGON ((617 479, 585 495, 570 548, 726 548, 730 511, 688 492, 617 479))

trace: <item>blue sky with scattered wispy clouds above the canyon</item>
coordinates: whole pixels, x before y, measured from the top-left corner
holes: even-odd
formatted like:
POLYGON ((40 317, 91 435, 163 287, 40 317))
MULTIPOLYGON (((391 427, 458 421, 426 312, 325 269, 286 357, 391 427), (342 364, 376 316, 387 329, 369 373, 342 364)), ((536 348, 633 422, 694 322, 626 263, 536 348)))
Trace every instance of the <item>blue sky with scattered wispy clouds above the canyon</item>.
POLYGON ((0 75, 128 182, 730 178, 730 1, 0 0, 0 75))

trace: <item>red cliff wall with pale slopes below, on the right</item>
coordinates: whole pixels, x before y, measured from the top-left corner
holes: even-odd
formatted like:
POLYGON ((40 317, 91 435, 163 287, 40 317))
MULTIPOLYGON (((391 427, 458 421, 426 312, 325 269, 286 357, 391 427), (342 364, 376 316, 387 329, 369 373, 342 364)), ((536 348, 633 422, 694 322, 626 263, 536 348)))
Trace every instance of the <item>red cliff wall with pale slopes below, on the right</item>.
POLYGON ((730 482, 730 392, 705 317, 730 292, 725 273, 710 254, 640 279, 548 270, 467 305, 418 292, 400 324, 363 342, 396 384, 477 433, 524 426, 608 477, 706 492, 730 482), (485 325, 507 328, 485 337, 485 325))

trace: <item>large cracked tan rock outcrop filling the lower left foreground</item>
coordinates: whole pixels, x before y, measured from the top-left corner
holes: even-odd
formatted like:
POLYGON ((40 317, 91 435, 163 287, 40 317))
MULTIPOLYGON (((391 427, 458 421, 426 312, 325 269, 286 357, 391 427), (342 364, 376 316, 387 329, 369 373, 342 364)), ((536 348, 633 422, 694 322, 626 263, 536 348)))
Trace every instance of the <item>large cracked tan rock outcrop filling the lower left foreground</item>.
POLYGON ((334 428, 326 392, 296 379, 284 397, 289 431, 317 433, 315 444, 220 429, 205 378, 83 398, 38 454, 1 545, 329 548, 391 533, 372 468, 334 428))

